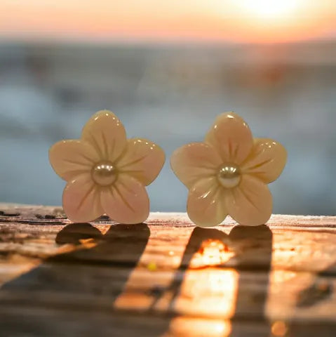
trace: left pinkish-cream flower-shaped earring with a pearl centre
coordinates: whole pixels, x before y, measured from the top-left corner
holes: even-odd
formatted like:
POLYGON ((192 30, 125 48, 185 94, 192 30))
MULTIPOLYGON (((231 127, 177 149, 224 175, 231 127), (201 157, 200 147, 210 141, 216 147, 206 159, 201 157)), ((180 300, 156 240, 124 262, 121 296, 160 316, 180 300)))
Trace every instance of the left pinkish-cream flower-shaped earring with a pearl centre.
POLYGON ((119 223, 149 216, 146 185, 159 175, 165 154, 143 138, 126 139, 118 117, 102 110, 80 140, 62 140, 49 151, 51 165, 67 181, 63 208, 69 220, 88 222, 107 214, 119 223))

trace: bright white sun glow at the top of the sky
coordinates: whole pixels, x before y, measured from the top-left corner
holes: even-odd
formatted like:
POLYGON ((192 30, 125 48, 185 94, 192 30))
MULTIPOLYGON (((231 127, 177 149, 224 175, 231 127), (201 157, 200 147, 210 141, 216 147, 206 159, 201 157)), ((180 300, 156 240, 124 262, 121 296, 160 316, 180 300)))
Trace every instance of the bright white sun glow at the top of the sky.
POLYGON ((237 4, 243 11, 258 18, 285 18, 295 12, 302 0, 241 0, 237 4))

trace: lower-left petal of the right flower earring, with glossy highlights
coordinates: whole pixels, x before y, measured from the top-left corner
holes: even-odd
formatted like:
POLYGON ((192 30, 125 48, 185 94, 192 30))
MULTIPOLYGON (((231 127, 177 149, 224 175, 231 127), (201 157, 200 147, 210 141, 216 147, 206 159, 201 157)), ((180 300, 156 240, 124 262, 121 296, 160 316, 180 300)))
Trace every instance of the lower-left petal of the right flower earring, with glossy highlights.
POLYGON ((223 193, 217 178, 199 180, 188 195, 187 213, 190 220, 200 227, 212 227, 222 223, 227 216, 223 193))

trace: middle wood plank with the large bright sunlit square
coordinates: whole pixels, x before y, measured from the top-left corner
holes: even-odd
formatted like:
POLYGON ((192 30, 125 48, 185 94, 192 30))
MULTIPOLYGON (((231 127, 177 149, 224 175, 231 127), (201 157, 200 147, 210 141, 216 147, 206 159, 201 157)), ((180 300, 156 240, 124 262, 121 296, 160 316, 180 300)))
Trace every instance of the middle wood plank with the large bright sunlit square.
POLYGON ((130 275, 130 270, 117 267, 43 264, 3 286, 0 307, 59 308, 67 303, 74 310, 154 310, 216 319, 235 315, 240 319, 335 320, 335 278, 279 273, 210 268, 185 274, 139 270, 130 275), (283 282, 278 281, 280 277, 283 282))

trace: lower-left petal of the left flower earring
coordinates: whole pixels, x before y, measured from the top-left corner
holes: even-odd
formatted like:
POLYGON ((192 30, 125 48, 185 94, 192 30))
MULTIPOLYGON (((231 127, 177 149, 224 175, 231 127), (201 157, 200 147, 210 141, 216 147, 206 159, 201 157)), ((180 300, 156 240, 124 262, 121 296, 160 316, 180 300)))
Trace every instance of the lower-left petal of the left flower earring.
POLYGON ((104 213, 100 206, 99 190, 89 173, 70 181, 63 192, 63 208, 74 223, 93 221, 104 213))

